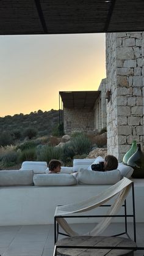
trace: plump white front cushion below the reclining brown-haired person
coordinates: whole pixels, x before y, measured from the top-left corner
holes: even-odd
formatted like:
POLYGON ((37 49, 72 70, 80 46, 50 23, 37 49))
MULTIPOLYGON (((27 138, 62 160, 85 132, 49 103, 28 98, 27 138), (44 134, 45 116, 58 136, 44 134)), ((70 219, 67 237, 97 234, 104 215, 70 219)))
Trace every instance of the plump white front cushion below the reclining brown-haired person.
POLYGON ((115 184, 120 181, 121 175, 119 170, 112 171, 88 171, 80 169, 77 175, 79 184, 115 184))

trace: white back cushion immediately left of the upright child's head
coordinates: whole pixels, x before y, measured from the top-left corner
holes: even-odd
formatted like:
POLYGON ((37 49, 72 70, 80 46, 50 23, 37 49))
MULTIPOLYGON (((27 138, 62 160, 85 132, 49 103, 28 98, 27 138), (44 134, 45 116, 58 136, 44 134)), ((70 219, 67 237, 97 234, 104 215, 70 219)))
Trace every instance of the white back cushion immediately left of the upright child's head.
POLYGON ((20 170, 34 170, 34 173, 45 173, 47 167, 47 162, 24 161, 20 170))

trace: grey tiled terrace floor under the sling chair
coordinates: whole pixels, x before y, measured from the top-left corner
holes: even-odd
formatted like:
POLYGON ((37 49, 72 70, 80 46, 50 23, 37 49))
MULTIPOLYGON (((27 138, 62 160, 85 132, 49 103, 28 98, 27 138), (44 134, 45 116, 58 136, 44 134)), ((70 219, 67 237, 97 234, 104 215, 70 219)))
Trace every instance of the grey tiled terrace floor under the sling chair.
MULTIPOLYGON (((76 231, 86 232, 93 224, 73 224, 76 231)), ((123 224, 110 224, 103 235, 121 232, 123 224)), ((128 224, 132 238, 132 224, 128 224)), ((62 238, 62 236, 60 237, 62 238)), ((137 245, 144 247, 144 223, 137 224, 137 245)), ((54 248, 54 225, 24 225, 0 227, 1 256, 52 256, 54 248)), ((144 255, 137 250, 134 255, 144 255)))

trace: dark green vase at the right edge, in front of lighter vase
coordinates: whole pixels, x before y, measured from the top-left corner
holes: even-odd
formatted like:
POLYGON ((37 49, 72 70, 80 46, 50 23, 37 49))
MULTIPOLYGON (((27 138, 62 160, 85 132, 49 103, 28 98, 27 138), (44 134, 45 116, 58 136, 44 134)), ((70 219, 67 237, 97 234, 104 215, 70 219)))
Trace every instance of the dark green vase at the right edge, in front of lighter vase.
POLYGON ((144 178, 144 154, 140 144, 137 145, 137 151, 129 158, 128 165, 134 169, 132 178, 144 178))

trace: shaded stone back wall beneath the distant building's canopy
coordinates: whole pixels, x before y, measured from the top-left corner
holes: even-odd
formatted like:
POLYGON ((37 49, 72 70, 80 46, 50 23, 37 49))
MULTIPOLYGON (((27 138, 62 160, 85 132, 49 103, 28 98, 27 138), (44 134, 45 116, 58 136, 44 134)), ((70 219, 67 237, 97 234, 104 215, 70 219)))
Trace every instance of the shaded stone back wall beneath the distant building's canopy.
POLYGON ((94 111, 87 108, 64 108, 64 132, 87 132, 94 130, 94 111))

